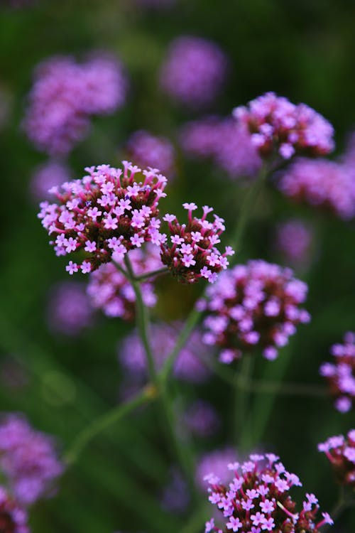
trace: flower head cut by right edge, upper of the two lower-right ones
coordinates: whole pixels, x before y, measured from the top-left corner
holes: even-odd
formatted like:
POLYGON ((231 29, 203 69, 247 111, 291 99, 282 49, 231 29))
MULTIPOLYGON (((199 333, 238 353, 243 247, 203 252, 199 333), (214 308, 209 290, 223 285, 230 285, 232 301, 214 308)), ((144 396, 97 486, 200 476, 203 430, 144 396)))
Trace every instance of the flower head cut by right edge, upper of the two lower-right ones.
POLYGON ((330 352, 334 363, 325 362, 320 374, 329 382, 335 407, 345 413, 355 404, 355 333, 346 333, 344 343, 334 344, 330 352))

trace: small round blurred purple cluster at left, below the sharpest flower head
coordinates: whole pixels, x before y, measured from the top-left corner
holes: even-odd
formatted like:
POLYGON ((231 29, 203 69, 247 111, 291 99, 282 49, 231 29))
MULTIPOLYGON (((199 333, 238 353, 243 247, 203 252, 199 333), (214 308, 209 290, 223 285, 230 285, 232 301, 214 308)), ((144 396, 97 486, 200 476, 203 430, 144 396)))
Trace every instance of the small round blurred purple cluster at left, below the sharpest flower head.
POLYGON ((84 285, 75 281, 63 281, 53 287, 46 318, 50 330, 65 335, 78 335, 92 325, 93 309, 84 285))

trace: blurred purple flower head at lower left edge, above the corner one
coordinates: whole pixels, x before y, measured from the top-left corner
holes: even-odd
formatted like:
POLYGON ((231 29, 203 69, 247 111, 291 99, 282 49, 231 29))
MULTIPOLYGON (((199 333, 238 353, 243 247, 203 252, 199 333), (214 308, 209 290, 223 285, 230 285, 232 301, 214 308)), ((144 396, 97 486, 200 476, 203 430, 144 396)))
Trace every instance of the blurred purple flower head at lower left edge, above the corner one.
POLYGON ((63 471, 50 436, 35 431, 16 414, 0 424, 0 468, 23 505, 50 496, 53 482, 63 471))

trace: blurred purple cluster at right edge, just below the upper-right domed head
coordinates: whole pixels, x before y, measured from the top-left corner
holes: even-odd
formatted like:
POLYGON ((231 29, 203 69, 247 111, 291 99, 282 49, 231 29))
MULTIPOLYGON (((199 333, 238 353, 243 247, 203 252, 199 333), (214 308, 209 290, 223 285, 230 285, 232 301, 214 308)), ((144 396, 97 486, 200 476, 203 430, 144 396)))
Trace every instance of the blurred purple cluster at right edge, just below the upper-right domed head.
POLYGON ((300 158, 280 178, 290 198, 333 212, 343 220, 355 216, 355 163, 300 158))

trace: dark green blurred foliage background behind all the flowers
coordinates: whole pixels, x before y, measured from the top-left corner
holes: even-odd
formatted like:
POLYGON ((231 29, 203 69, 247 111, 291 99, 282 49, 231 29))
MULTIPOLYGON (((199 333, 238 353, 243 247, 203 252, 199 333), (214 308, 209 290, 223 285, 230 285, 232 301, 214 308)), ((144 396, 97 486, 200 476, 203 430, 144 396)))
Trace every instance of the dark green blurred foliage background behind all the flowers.
MULTIPOLYGON (((178 127, 202 113, 181 109, 158 87, 168 44, 190 34, 212 39, 228 55, 229 79, 209 112, 227 115, 236 105, 273 90, 329 119, 336 131, 337 156, 355 126, 355 4, 177 0, 165 9, 148 9, 133 0, 9 4, 0 2, 0 89, 5 95, 0 103, 5 109, 0 110, 0 407, 25 413, 33 426, 57 436, 65 449, 80 429, 119 402, 123 376, 116 346, 133 326, 99 313, 75 337, 48 326, 48 295, 67 274, 65 260, 48 247, 29 189, 33 169, 46 160, 21 129, 35 66, 51 55, 80 60, 92 50, 105 50, 120 58, 128 72, 126 104, 107 117, 94 117, 89 136, 68 158, 72 176, 80 178, 84 166, 117 166, 131 133, 148 129, 168 137, 178 153, 166 211, 179 211, 184 201, 207 203, 228 227, 246 188, 212 163, 182 155, 178 127)), ((239 261, 280 261, 273 246, 275 225, 289 217, 301 217, 315 232, 310 267, 299 274, 310 284, 306 307, 312 322, 299 328, 277 361, 258 362, 256 373, 272 379, 287 363, 285 379, 319 386, 318 368, 329 358, 329 346, 355 327, 354 222, 295 205, 271 181, 253 208, 239 261)), ((183 319, 199 290, 160 280, 155 318, 183 319)), ((198 390, 188 384, 179 387, 185 399, 209 399, 222 419, 216 437, 196 441, 197 453, 231 443, 231 391, 226 384, 215 377, 198 390)), ((330 510, 337 486, 317 443, 354 427, 354 414, 337 413, 324 398, 282 397, 269 406, 268 397, 260 396, 255 406, 258 424, 273 407, 260 448, 278 453, 305 488, 320 497, 322 508, 330 510)), ((155 411, 138 412, 95 438, 62 478, 58 495, 33 508, 33 532, 184 532, 193 510, 175 516, 159 500, 173 462, 155 411)), ((341 525, 344 532, 354 531, 354 510, 346 512, 341 525)))

